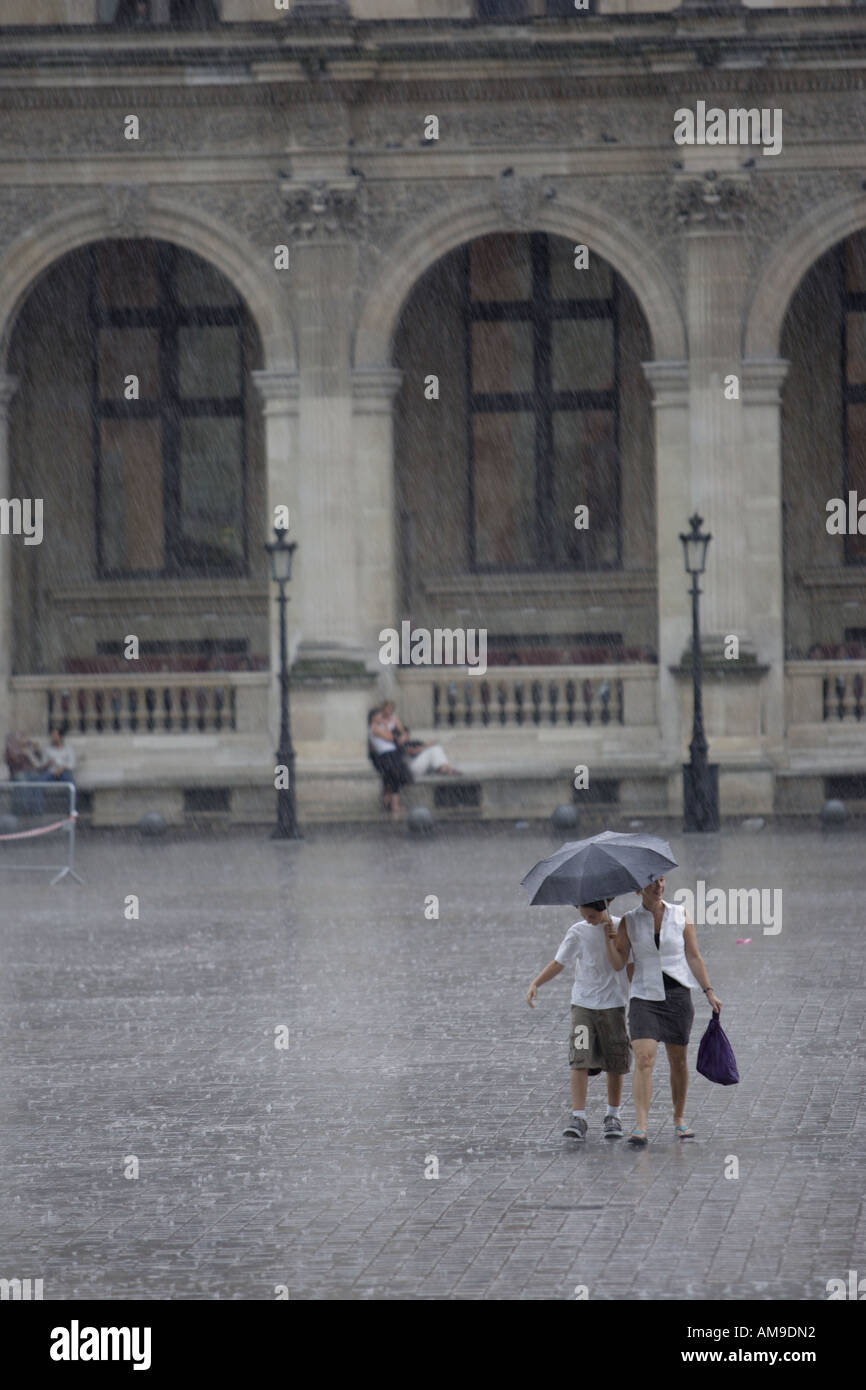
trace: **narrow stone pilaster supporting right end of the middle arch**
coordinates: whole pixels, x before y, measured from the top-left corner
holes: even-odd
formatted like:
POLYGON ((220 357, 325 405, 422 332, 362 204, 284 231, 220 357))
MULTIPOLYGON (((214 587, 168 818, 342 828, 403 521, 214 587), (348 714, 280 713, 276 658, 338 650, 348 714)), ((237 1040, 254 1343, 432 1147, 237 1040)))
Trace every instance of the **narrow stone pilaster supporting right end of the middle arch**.
POLYGON ((656 418, 659 731, 664 758, 676 764, 671 777, 676 802, 681 796, 683 731, 680 691, 670 667, 680 664, 683 649, 691 641, 688 580, 680 543, 691 486, 688 363, 645 361, 644 373, 652 388, 656 418))

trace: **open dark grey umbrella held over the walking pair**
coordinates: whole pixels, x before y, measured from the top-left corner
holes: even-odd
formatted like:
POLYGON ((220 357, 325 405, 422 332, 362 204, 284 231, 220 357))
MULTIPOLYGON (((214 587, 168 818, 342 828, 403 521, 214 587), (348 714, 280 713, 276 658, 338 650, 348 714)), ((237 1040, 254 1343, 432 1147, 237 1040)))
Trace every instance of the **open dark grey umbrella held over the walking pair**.
POLYGON ((620 892, 645 888, 677 860, 666 840, 603 830, 588 840, 573 840, 521 878, 532 906, 596 902, 620 892))

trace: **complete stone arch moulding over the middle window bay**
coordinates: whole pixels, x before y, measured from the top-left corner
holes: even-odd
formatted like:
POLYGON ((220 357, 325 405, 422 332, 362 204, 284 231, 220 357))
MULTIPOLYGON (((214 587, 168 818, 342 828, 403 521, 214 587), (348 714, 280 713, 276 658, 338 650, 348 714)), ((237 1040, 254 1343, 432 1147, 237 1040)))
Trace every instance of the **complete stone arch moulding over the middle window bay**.
POLYGON ((413 227, 388 254, 385 271, 367 292, 354 341, 356 367, 391 361, 393 335, 403 306, 421 275, 464 242, 495 232, 548 232, 577 238, 603 256, 628 282, 646 316, 653 354, 681 361, 687 356, 685 325, 667 277, 635 231, 616 224, 607 213, 584 203, 548 203, 525 224, 509 222, 485 200, 471 207, 439 210, 413 227))

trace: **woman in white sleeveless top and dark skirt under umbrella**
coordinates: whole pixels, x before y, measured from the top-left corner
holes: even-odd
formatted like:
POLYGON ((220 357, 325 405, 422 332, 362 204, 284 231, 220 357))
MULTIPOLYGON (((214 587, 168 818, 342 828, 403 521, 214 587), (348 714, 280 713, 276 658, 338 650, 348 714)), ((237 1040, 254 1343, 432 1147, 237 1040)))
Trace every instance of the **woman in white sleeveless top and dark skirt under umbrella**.
POLYGON ((652 1069, 659 1042, 664 1044, 670 1065, 670 1090, 677 1138, 694 1138, 695 1131, 684 1119, 688 1090, 687 1049, 695 1017, 691 990, 703 990, 714 1013, 721 1009, 709 983, 698 949, 694 923, 680 903, 663 898, 664 878, 653 878, 641 892, 641 906, 620 919, 616 941, 609 951, 617 970, 626 969, 628 952, 634 954, 634 977, 628 1004, 628 1033, 634 1052, 635 1127, 628 1143, 646 1145, 646 1125, 652 1099, 652 1069))

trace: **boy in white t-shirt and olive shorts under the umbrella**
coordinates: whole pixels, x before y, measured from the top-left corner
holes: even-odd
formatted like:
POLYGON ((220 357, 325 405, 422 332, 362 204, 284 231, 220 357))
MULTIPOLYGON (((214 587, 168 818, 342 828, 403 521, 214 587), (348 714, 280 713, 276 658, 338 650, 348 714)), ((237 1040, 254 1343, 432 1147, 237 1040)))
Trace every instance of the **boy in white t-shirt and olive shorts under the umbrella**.
MULTIPOLYGON (((574 962, 571 987, 571 1031, 569 1036, 569 1065, 571 1068, 571 1119, 563 1134, 570 1138, 587 1137, 587 1081, 599 1072, 607 1074, 607 1113, 602 1125, 605 1138, 621 1138, 620 1102, 623 1076, 631 1068, 631 1044, 626 1031, 626 1005, 631 969, 617 970, 610 955, 616 941, 619 917, 610 917, 607 906, 613 898, 588 902, 578 908, 581 920, 574 922, 559 951, 527 990, 527 1004, 535 1008, 538 987, 556 979, 566 965, 574 962)), ((619 958, 617 958, 619 959, 619 958)))

